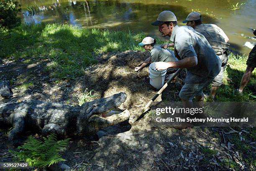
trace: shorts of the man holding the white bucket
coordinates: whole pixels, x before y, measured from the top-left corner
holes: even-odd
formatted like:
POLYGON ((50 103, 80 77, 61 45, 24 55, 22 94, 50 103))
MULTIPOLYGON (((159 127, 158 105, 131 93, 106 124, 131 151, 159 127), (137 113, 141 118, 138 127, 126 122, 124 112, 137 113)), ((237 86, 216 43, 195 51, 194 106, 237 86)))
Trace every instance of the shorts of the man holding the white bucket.
POLYGON ((204 96, 203 89, 210 85, 214 78, 207 78, 206 82, 202 84, 189 84, 185 83, 179 92, 179 97, 182 100, 193 100, 194 97, 204 96))

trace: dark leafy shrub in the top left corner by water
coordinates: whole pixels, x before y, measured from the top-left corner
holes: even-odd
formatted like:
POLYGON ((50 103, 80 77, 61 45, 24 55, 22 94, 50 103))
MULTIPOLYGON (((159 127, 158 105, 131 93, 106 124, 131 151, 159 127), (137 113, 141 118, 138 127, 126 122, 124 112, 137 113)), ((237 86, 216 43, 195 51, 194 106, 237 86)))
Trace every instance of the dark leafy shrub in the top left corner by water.
POLYGON ((20 25, 17 17, 20 4, 16 0, 0 0, 0 31, 7 31, 20 25))

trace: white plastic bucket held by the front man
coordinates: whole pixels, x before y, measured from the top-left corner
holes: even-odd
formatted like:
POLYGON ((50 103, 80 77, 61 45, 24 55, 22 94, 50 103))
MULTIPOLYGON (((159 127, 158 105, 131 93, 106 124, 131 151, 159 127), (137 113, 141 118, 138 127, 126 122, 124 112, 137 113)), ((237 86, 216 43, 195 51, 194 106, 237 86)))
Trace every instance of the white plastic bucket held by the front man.
POLYGON ((153 62, 149 65, 149 83, 156 89, 160 89, 164 85, 166 69, 157 71, 155 64, 156 62, 153 62))

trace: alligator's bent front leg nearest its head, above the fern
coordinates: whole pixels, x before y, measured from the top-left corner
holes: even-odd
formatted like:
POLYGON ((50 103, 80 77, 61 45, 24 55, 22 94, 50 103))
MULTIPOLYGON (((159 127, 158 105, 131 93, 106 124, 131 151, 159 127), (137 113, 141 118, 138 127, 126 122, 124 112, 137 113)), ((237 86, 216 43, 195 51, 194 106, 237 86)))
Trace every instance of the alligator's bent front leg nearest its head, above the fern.
POLYGON ((58 124, 56 123, 49 123, 47 125, 44 125, 44 128, 42 129, 42 136, 46 137, 50 134, 56 134, 59 137, 64 136, 64 129, 62 129, 58 124))

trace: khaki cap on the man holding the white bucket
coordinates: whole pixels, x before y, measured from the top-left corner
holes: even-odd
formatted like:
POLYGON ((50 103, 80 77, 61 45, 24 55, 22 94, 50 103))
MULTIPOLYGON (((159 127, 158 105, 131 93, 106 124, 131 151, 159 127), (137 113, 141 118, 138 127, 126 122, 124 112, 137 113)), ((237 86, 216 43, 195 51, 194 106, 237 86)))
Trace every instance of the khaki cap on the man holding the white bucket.
POLYGON ((166 21, 177 21, 176 16, 172 11, 162 11, 156 21, 151 23, 153 26, 161 26, 166 21))

